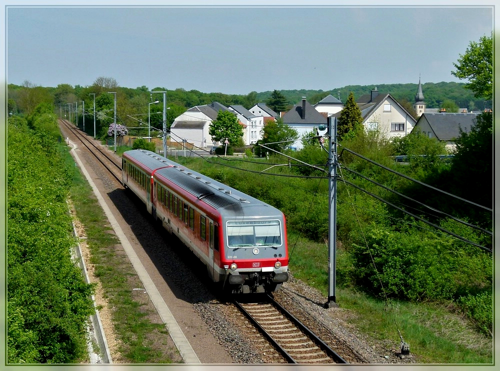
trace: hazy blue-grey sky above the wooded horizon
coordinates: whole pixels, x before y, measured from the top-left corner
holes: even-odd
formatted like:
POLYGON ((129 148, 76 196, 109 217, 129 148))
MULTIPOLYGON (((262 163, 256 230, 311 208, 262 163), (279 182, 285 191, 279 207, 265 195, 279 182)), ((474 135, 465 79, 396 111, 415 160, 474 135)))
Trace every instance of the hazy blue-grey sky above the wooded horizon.
POLYGON ((3 0, 7 83, 89 86, 103 76, 130 88, 247 94, 466 82, 453 63, 491 34, 494 15, 494 1, 52 2, 3 0))

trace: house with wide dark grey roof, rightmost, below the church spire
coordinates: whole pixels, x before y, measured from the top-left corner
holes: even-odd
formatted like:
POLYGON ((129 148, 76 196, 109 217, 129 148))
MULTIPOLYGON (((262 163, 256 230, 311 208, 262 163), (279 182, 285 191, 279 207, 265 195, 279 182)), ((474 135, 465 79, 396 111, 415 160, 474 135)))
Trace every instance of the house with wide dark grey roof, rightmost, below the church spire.
POLYGON ((475 125, 479 113, 428 113, 424 112, 418 118, 412 133, 421 132, 430 138, 437 138, 446 143, 446 149, 455 149, 455 139, 460 136, 460 130, 469 132, 475 125))

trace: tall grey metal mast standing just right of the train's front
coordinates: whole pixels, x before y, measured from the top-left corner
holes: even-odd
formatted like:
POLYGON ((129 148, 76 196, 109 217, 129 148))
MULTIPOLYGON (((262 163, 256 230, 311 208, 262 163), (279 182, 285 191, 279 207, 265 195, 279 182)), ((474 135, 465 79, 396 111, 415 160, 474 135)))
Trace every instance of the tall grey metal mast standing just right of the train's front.
POLYGON ((337 307, 335 302, 336 240, 337 240, 337 118, 329 117, 329 184, 328 184, 328 301, 325 308, 337 307))

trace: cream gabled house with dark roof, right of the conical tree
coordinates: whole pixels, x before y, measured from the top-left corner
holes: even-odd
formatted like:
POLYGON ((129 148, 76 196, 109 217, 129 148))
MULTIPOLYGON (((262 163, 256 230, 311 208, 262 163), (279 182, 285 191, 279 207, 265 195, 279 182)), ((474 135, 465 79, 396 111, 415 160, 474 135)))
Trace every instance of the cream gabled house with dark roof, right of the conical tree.
MULTIPOLYGON (((416 123, 416 119, 389 93, 380 94, 374 87, 369 94, 356 101, 365 130, 379 130, 385 137, 404 136, 416 123)), ((339 116, 340 112, 334 116, 339 116)))

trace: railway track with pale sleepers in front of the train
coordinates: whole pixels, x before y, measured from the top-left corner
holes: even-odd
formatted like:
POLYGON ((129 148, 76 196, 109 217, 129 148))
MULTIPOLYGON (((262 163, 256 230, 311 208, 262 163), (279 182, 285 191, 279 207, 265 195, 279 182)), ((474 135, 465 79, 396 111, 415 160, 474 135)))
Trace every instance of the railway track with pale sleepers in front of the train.
POLYGON ((347 363, 271 296, 234 304, 288 363, 347 363))

